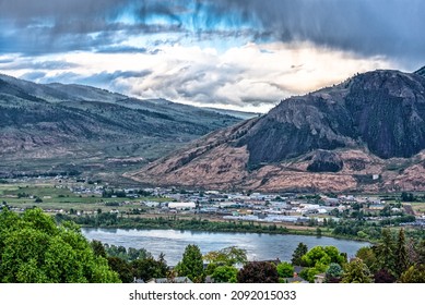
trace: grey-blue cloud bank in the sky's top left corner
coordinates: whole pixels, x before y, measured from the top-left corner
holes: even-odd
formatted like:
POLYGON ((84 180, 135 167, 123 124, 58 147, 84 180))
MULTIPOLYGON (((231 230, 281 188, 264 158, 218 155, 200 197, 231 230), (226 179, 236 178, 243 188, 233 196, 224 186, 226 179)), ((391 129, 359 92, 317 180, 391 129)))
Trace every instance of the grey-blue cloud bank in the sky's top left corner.
MULTIPOLYGON (((139 14, 145 1, 130 0, 0 0, 0 52, 43 54, 97 50, 120 44, 129 35, 176 30, 176 25, 125 24, 129 10, 139 14), (135 5, 138 4, 138 5, 135 5), (134 8, 135 5, 135 8, 134 8)), ((156 2, 156 1, 147 1, 156 2)), ((140 20, 140 15, 134 16, 140 20)))

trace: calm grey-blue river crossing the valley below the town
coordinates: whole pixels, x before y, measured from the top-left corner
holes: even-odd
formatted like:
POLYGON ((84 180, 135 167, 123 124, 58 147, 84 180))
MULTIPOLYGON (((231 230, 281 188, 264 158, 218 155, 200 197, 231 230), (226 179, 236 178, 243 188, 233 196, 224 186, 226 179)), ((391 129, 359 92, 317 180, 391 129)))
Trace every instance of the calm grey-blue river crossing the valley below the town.
POLYGON ((370 245, 366 242, 291 234, 91 228, 83 228, 82 233, 88 240, 97 240, 109 245, 125 246, 127 248, 145 248, 155 258, 157 258, 160 253, 164 253, 169 266, 175 266, 181 259, 185 247, 189 244, 198 245, 202 254, 228 246, 237 246, 247 251, 248 259, 250 260, 280 258, 286 261, 291 261, 292 254, 298 243, 306 244, 309 249, 317 245, 333 245, 340 252, 345 252, 349 258, 354 257, 358 248, 370 245))

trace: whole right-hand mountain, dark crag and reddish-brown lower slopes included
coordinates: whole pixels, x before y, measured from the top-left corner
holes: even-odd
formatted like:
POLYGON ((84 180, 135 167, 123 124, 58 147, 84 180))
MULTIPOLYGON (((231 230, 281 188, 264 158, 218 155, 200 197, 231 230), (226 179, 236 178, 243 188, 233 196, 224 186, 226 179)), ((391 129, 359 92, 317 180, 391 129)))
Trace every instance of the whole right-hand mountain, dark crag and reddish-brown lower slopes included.
POLYGON ((128 176, 258 191, 425 191, 425 77, 379 70, 281 101, 128 176))

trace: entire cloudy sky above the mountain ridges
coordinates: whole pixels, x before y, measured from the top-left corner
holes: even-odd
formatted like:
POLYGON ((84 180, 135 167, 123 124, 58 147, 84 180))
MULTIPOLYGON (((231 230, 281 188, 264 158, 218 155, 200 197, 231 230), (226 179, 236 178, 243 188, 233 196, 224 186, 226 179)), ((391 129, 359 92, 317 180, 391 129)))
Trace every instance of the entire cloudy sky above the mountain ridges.
POLYGON ((0 0, 0 73, 265 112, 425 65, 422 0, 0 0))

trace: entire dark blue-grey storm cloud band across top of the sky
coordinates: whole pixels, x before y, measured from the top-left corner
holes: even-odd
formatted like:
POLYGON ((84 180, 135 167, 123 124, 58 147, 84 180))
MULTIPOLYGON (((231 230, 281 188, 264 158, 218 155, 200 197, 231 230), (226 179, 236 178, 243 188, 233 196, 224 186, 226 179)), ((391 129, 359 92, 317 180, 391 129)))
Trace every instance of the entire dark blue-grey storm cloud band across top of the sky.
POLYGON ((0 0, 0 52, 105 50, 129 35, 176 33, 202 40, 307 40, 418 61, 423 12, 422 0, 0 0))

